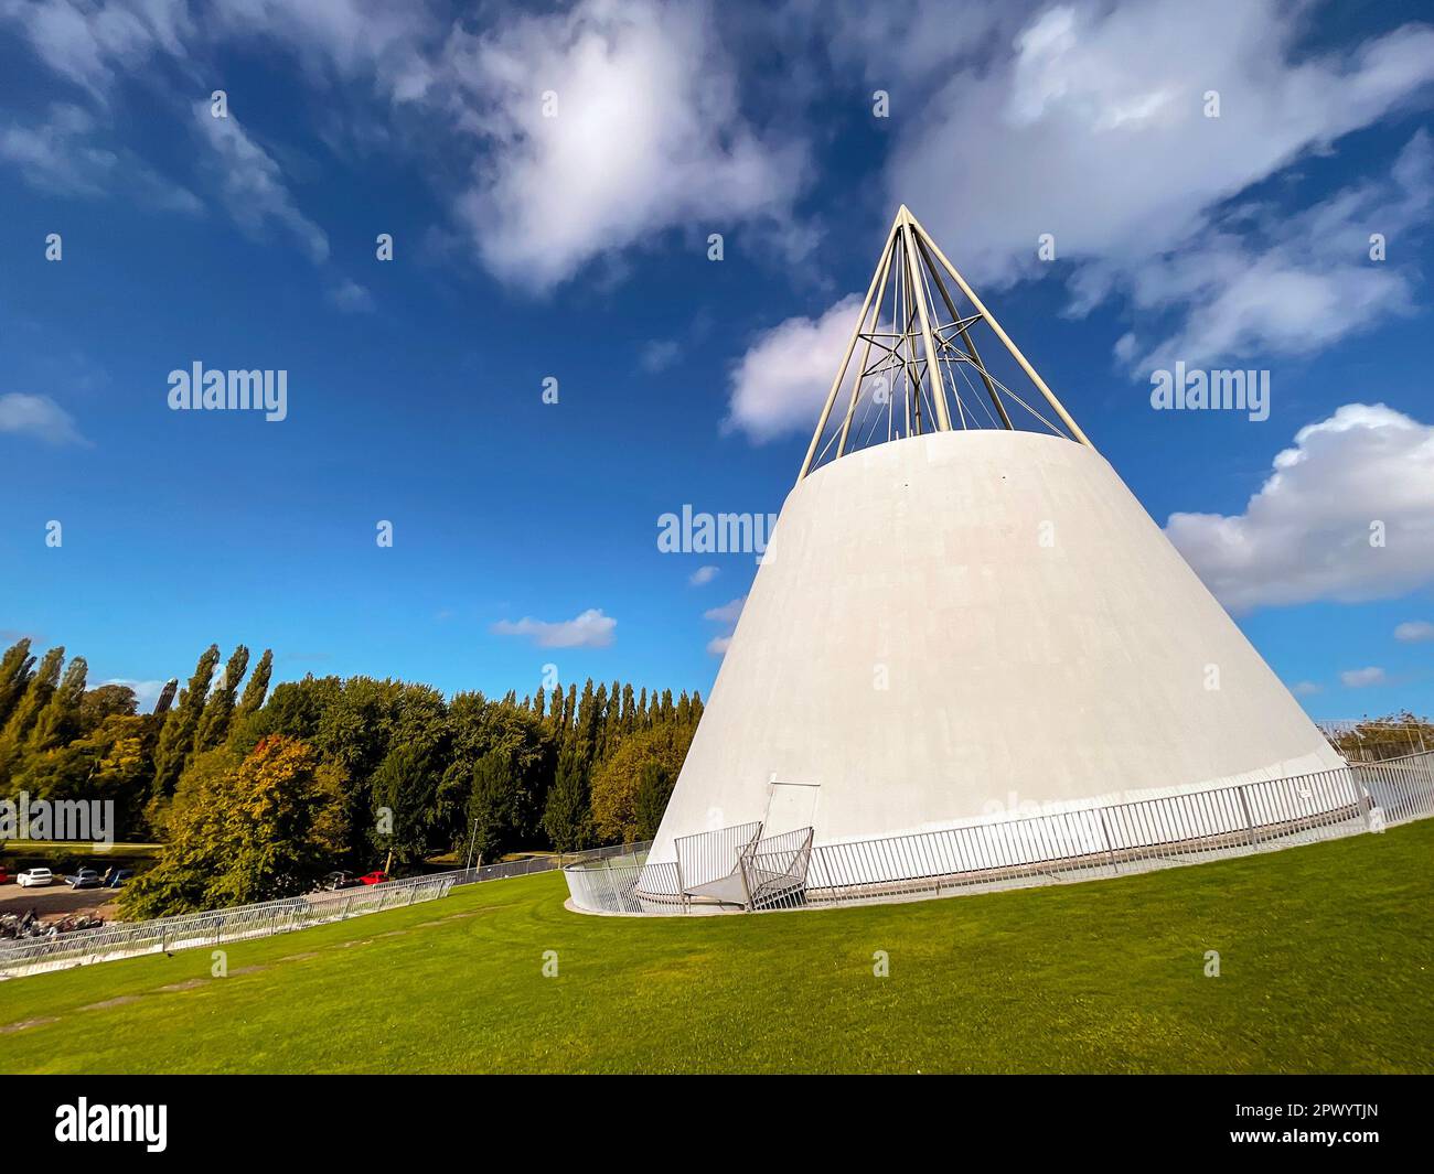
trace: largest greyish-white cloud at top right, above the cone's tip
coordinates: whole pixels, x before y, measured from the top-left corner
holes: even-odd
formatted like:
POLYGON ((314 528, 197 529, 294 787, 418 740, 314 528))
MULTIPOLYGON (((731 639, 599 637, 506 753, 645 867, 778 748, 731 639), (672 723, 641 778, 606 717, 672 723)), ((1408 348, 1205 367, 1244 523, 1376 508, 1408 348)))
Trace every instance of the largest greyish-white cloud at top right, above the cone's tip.
POLYGON ((1048 7, 1010 56, 949 70, 903 123, 888 202, 909 204, 979 281, 1034 272, 1043 232, 1065 261, 1139 268, 1210 208, 1434 79, 1434 29, 1309 53, 1312 11, 1278 0, 1048 7), (1220 118, 1205 116, 1207 90, 1220 118))

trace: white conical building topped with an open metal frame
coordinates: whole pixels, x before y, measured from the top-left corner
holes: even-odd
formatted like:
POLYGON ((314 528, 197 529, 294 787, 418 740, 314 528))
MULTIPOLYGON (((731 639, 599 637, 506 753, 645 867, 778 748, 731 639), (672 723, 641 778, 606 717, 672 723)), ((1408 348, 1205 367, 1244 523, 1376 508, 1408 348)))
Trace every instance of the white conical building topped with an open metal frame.
MULTIPOLYGON (((1341 767, 902 208, 638 887, 671 896, 677 864, 688 897, 746 903, 754 841, 899 880, 948 867, 911 863, 922 833, 1015 820, 1054 857, 1197 841, 1288 813, 1170 797, 1341 767)), ((951 851, 998 869, 1005 834, 951 851)))

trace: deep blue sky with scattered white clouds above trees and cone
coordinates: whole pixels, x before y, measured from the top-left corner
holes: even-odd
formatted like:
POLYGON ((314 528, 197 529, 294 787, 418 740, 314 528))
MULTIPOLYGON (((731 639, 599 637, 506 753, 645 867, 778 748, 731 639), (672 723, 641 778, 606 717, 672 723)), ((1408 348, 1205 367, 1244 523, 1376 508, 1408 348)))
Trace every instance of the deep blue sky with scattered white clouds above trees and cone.
POLYGON ((658 517, 780 509, 906 202, 1311 712, 1431 711, 1423 7, 0 0, 0 629, 706 694, 756 563, 658 517))

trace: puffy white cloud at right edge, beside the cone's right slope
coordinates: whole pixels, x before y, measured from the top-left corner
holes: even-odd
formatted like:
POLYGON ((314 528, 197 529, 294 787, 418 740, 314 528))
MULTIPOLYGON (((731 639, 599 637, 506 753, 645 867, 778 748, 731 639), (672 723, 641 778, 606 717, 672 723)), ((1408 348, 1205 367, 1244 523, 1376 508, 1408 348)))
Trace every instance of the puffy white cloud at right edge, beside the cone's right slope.
POLYGON ((1345 404, 1295 434, 1243 513, 1173 513, 1166 533, 1232 611, 1404 595, 1434 582, 1434 427, 1345 404))

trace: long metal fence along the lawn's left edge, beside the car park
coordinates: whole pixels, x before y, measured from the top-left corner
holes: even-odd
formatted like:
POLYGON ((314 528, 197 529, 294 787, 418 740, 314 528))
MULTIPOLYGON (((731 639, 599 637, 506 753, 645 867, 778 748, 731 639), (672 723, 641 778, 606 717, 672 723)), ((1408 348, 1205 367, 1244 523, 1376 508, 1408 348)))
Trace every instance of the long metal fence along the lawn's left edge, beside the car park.
POLYGON ((158 917, 149 922, 116 922, 99 929, 56 933, 44 937, 22 937, 0 942, 0 973, 7 976, 33 975, 90 962, 109 962, 142 953, 159 953, 218 946, 250 937, 268 937, 291 929, 340 922, 364 913, 381 913, 419 902, 447 896, 453 879, 447 873, 419 876, 410 880, 390 880, 344 889, 337 893, 315 893, 307 897, 284 897, 262 905, 239 905, 208 913, 185 913, 178 917, 158 917))

